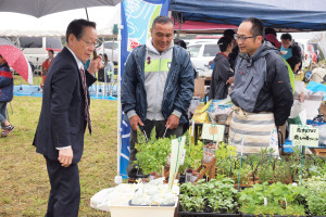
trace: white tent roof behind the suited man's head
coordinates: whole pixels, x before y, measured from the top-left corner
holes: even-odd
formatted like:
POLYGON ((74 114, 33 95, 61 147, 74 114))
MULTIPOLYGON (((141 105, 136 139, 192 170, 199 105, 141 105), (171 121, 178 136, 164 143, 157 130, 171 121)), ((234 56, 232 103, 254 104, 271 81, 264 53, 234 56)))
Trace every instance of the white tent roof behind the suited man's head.
MULTIPOLYGON (((110 36, 114 24, 120 24, 120 5, 87 9, 89 21, 97 23, 98 36, 110 36)), ((87 20, 85 9, 59 12, 36 18, 30 15, 0 12, 0 36, 65 36, 68 23, 75 18, 87 20)))

